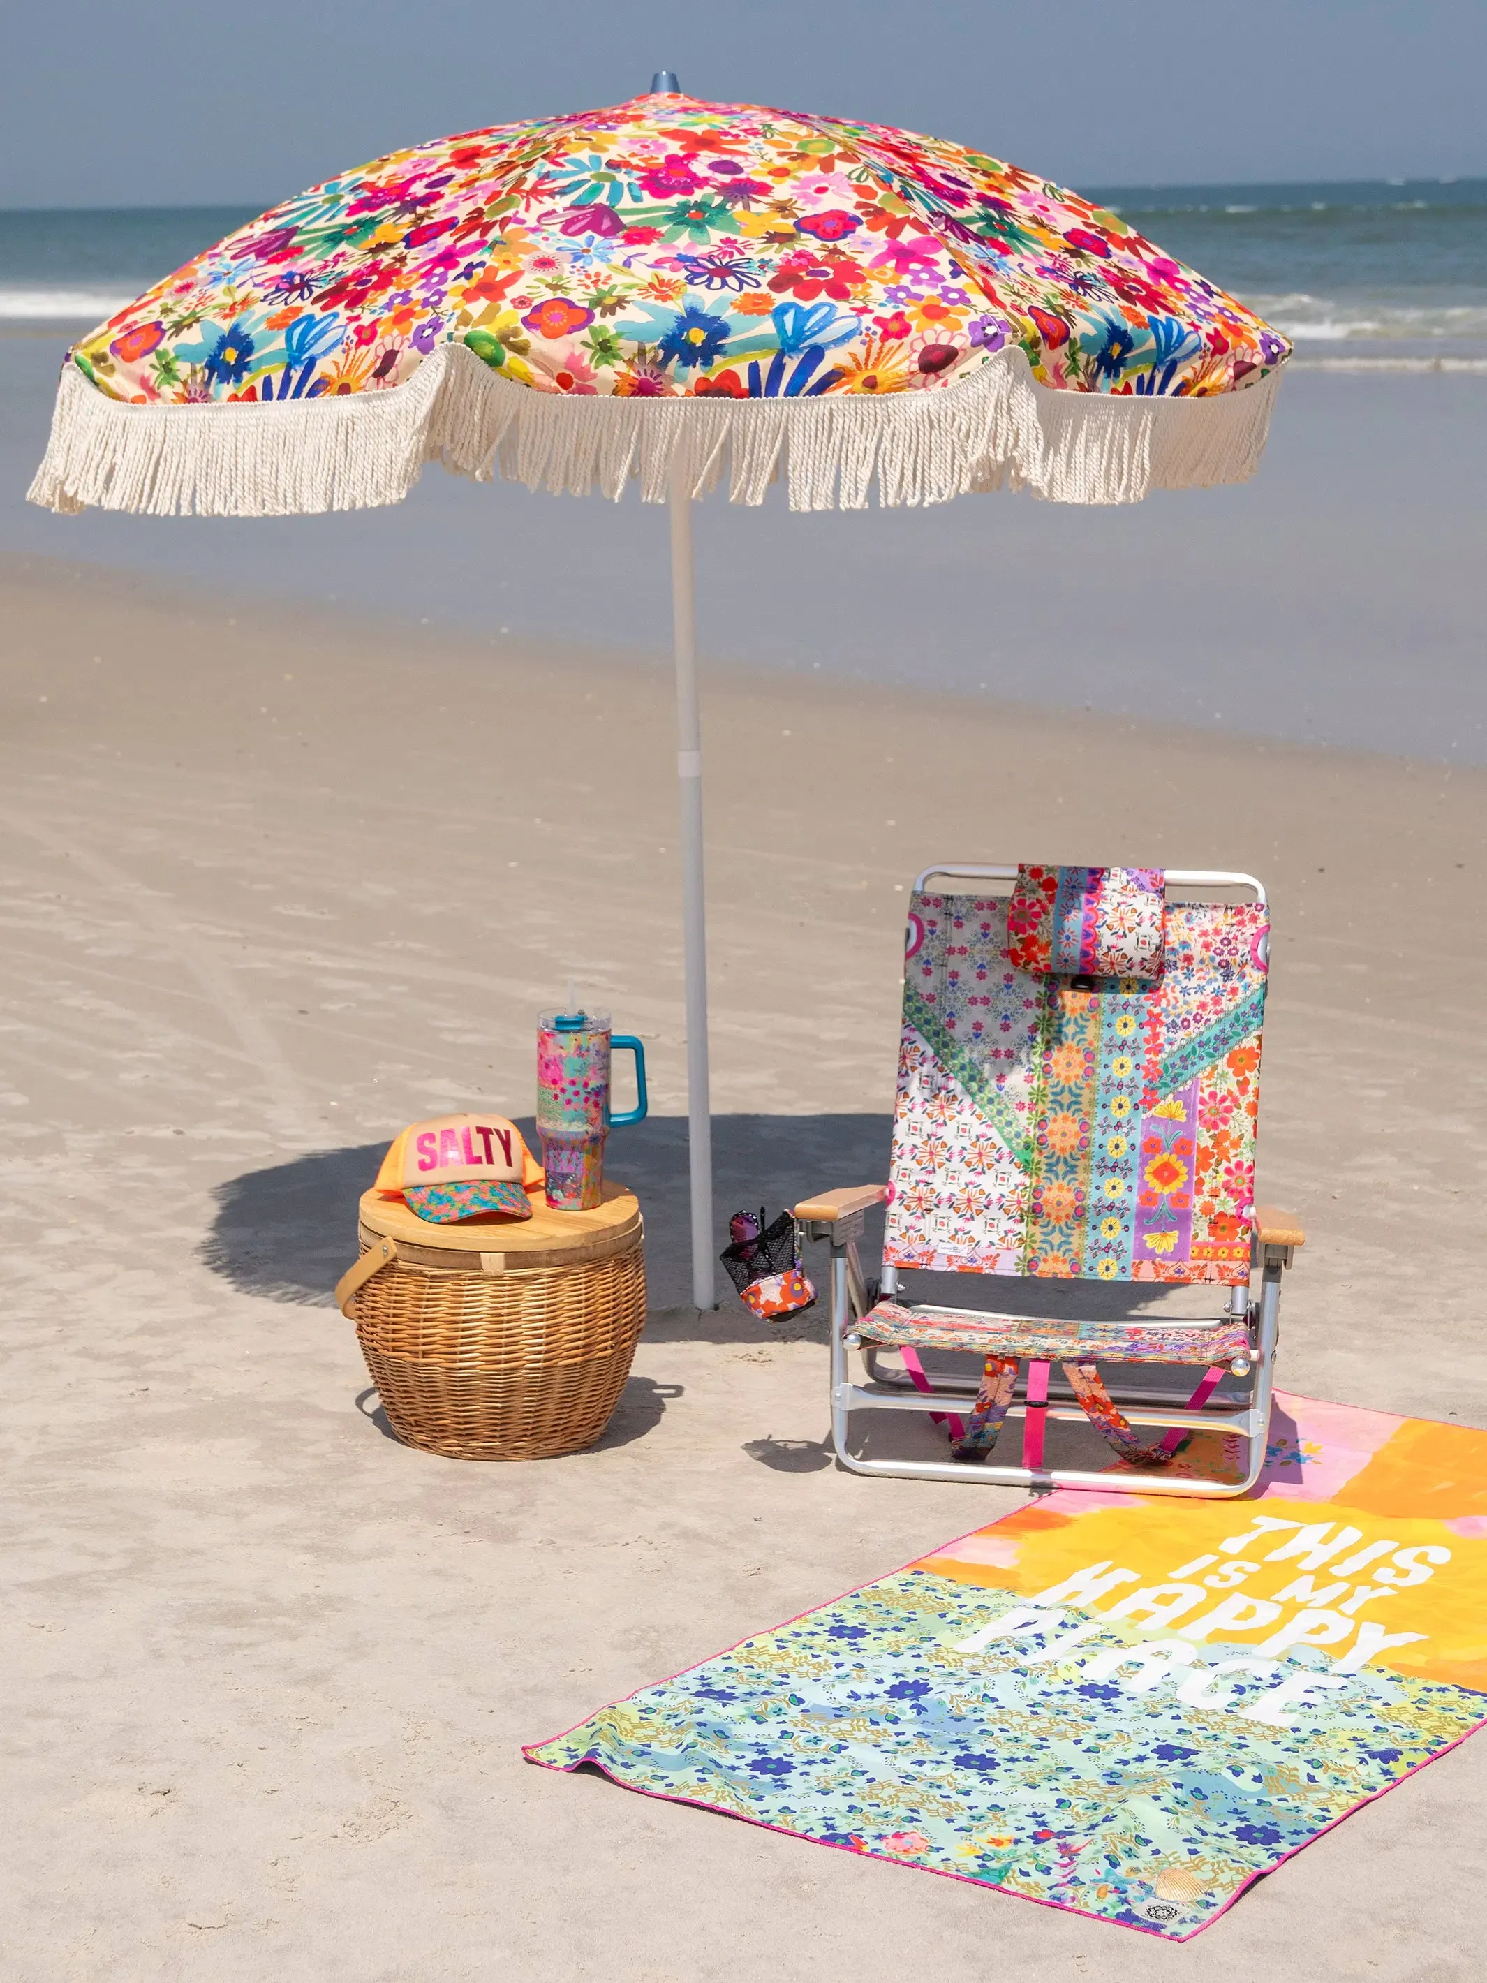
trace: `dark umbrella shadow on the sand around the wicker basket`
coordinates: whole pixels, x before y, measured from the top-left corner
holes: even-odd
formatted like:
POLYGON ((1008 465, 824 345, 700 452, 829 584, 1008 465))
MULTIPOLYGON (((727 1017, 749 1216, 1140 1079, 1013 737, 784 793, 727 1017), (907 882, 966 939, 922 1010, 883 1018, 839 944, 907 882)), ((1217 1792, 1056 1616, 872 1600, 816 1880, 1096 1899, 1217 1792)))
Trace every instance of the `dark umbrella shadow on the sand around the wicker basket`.
MULTIPOLYGON (((773 1216, 811 1192, 886 1178, 890 1126, 886 1114, 714 1116, 716 1251, 728 1243, 728 1214, 738 1206, 765 1206, 773 1216)), ((533 1124, 519 1128, 537 1148, 533 1124)), ((357 1200, 385 1150, 385 1142, 315 1150, 220 1184, 202 1261, 246 1295, 331 1307, 331 1289, 357 1257, 357 1200)), ((632 1186, 644 1210, 648 1329, 710 1342, 757 1339, 759 1325, 734 1299, 722 1267, 722 1307, 698 1315, 690 1305, 686 1118, 650 1116, 615 1130, 607 1172, 632 1186)))

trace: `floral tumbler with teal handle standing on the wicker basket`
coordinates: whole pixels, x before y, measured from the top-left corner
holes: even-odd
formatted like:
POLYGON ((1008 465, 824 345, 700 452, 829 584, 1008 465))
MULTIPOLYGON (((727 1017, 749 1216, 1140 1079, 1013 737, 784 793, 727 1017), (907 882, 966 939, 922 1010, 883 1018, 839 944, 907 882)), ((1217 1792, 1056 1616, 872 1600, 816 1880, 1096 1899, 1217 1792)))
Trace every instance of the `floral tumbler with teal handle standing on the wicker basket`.
POLYGON ((611 1033, 607 1011, 537 1015, 537 1134, 547 1170, 547 1204, 591 1212, 605 1198, 605 1138, 646 1114, 646 1057, 632 1033, 611 1033), (638 1105, 611 1114, 611 1051, 634 1053, 638 1105))

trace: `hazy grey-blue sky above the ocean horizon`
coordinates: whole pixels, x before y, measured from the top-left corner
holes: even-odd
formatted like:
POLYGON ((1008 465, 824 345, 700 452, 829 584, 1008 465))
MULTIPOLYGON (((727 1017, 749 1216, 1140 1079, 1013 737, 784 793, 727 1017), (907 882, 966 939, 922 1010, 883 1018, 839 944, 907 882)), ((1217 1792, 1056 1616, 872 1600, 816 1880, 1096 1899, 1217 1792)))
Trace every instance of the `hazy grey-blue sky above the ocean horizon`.
POLYGON ((69 0, 4 44, 0 206, 266 208, 658 67, 1075 186, 1487 175, 1483 0, 69 0))

